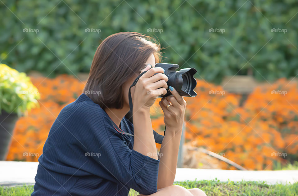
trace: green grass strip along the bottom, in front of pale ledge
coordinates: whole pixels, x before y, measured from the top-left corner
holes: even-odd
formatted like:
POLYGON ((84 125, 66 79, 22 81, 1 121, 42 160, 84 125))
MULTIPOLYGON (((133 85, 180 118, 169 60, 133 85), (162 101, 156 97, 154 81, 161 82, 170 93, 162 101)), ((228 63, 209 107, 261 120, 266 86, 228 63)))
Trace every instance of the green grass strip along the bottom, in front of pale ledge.
MULTIPOLYGON (((187 189, 200 188, 205 191, 208 196, 298 196, 298 182, 295 184, 277 184, 267 185, 265 182, 220 182, 219 180, 200 180, 200 181, 184 181, 175 182, 175 185, 183 186, 187 189)), ((33 186, 16 186, 10 188, 0 187, 0 195, 3 196, 25 196, 33 192, 33 186)), ((130 190, 129 196, 136 196, 138 192, 130 190)))

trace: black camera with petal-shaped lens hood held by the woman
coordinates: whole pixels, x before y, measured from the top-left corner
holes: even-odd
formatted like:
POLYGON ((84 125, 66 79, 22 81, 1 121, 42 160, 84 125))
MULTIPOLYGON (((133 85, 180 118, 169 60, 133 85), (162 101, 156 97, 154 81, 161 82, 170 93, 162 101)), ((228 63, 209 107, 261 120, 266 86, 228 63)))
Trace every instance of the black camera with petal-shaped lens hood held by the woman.
MULTIPOLYGON (((193 77, 196 73, 195 68, 185 68, 176 71, 179 68, 177 64, 170 63, 157 63, 155 67, 161 67, 165 70, 165 75, 169 78, 168 87, 174 87, 180 96, 195 97, 197 94, 193 89, 196 87, 196 79, 193 77)), ((167 93, 163 96, 166 97, 172 93, 167 88, 167 93)))

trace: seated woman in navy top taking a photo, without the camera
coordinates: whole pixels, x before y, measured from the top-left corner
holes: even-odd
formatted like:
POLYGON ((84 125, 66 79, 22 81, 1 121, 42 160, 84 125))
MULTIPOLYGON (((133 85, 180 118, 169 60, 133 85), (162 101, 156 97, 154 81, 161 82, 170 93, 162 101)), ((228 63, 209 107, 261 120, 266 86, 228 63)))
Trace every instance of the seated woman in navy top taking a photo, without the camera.
POLYGON ((135 32, 116 33, 97 48, 84 93, 65 106, 53 123, 38 159, 32 195, 205 195, 200 189, 173 186, 186 102, 160 101, 166 134, 160 154, 149 109, 165 94, 168 78, 154 67, 160 46, 135 32), (150 64, 150 65, 149 65, 150 64), (152 67, 152 68, 151 68, 152 67), (129 111, 131 88, 133 123, 129 111))

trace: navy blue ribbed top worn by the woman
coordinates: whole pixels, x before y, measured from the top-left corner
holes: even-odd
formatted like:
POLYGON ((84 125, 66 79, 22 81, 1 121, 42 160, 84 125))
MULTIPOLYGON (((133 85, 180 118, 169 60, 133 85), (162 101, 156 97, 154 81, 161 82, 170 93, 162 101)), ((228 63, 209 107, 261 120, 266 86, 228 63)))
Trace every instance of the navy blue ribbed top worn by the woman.
MULTIPOLYGON (((159 160, 133 150, 133 136, 119 133, 109 118, 84 93, 61 110, 38 158, 33 196, 157 191, 159 160)), ((125 117, 120 128, 133 134, 125 117)))

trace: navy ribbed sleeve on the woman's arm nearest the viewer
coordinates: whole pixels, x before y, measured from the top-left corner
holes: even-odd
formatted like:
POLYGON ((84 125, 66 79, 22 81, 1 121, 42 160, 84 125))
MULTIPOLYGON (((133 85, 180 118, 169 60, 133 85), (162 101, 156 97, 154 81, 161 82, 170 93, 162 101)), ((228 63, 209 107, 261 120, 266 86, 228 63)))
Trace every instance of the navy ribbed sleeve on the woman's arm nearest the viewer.
POLYGON ((91 138, 86 141, 88 155, 97 164, 116 178, 122 185, 128 186, 140 194, 153 194, 157 191, 159 160, 129 149, 125 141, 111 126, 102 122, 92 123, 88 127, 91 138), (92 156, 90 153, 98 153, 92 156))

